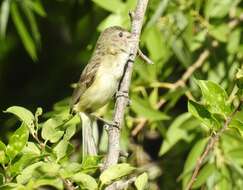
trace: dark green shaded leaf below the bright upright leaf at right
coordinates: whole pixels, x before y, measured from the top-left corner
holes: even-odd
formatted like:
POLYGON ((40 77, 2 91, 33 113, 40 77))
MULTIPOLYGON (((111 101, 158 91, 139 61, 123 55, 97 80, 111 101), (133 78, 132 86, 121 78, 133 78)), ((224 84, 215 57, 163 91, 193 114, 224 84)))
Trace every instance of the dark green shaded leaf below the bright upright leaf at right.
POLYGON ((213 117, 213 115, 205 108, 205 106, 198 104, 197 102, 193 102, 191 100, 188 101, 188 111, 199 121, 201 121, 204 125, 209 128, 218 129, 220 128, 220 123, 213 117))

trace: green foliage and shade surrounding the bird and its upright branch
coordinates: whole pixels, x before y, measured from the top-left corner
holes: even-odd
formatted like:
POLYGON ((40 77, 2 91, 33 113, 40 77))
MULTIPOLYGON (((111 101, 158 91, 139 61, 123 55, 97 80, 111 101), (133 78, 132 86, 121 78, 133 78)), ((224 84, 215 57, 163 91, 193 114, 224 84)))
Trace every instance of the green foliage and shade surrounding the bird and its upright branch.
MULTIPOLYGON (((101 173, 106 132, 99 130, 100 156, 83 159, 79 119, 68 113, 69 85, 87 63, 98 32, 111 25, 129 29, 128 11, 135 5, 135 0, 1 1, 0 109, 6 110, 0 118, 1 188, 64 189, 71 182, 103 189, 132 176, 132 189, 186 188, 208 140, 242 101, 243 2, 150 0, 140 47, 154 64, 140 58, 134 64, 132 104, 121 135, 129 156, 101 173), (34 112, 37 105, 48 111, 34 112)), ((110 119, 113 107, 99 114, 110 119)), ((241 189, 242 117, 239 109, 193 189, 241 189)))

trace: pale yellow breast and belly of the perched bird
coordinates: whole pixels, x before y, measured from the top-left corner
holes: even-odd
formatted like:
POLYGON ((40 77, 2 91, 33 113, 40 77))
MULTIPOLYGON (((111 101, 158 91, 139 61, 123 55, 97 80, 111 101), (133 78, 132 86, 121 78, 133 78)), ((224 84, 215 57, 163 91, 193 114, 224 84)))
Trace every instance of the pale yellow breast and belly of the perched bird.
POLYGON ((128 55, 110 55, 101 63, 93 84, 80 97, 79 110, 95 111, 109 102, 117 91, 128 55))

